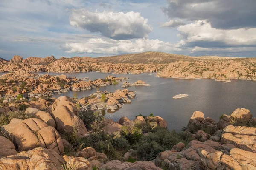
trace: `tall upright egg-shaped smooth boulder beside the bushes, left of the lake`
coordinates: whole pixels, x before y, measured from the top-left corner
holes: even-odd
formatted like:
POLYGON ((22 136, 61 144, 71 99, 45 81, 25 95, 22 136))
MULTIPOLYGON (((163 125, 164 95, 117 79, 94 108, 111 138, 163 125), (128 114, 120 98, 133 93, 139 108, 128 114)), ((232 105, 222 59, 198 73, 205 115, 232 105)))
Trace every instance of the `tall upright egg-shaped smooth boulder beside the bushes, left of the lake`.
POLYGON ((61 96, 52 105, 52 116, 56 122, 56 129, 64 133, 71 133, 76 128, 81 136, 87 129, 84 122, 79 119, 76 105, 70 97, 61 96))

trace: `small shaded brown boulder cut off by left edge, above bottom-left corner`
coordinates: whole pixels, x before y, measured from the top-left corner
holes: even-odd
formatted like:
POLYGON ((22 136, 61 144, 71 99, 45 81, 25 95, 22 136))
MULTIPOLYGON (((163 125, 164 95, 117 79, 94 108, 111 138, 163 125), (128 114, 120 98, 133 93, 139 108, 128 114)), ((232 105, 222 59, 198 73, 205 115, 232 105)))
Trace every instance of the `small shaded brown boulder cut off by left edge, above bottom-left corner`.
POLYGON ((0 136, 0 158, 9 155, 16 155, 14 144, 7 138, 0 136))

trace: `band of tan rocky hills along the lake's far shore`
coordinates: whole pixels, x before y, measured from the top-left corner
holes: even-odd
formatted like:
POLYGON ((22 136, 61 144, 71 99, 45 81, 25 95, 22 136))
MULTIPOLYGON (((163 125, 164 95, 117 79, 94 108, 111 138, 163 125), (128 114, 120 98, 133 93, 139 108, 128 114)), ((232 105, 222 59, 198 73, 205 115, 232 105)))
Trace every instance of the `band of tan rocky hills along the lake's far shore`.
POLYGON ((0 60, 0 72, 76 73, 100 71, 117 74, 157 72, 159 77, 184 79, 211 78, 256 80, 256 58, 190 57, 159 52, 145 52, 113 57, 73 57, 55 59, 14 56, 9 62, 0 60))

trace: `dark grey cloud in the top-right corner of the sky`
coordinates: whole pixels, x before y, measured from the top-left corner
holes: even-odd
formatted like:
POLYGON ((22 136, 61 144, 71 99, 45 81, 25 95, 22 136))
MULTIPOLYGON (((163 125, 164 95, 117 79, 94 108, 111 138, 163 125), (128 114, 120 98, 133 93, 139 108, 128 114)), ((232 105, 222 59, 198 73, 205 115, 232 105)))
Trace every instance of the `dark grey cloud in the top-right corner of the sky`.
POLYGON ((213 28, 256 27, 256 0, 169 0, 169 18, 208 20, 213 28))

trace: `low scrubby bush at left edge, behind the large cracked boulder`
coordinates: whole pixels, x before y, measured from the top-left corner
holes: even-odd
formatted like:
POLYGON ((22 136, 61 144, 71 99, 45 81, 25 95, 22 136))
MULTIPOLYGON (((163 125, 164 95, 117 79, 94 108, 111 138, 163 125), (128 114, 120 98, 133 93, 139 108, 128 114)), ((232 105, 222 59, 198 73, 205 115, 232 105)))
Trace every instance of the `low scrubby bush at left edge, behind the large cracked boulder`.
POLYGON ((25 114, 24 111, 11 111, 0 116, 0 126, 9 124, 13 118, 24 120, 29 118, 38 118, 38 116, 35 114, 25 114))

